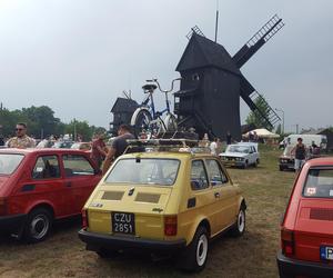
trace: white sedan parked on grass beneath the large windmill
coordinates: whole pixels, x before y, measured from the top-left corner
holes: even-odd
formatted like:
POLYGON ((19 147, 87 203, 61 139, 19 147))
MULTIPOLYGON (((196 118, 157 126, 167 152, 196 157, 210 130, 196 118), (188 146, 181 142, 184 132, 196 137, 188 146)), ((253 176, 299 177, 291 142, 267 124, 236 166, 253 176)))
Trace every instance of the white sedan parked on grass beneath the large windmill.
POLYGON ((219 155, 225 166, 235 166, 248 168, 249 166, 256 167, 260 162, 258 143, 239 142, 229 145, 225 152, 219 155))

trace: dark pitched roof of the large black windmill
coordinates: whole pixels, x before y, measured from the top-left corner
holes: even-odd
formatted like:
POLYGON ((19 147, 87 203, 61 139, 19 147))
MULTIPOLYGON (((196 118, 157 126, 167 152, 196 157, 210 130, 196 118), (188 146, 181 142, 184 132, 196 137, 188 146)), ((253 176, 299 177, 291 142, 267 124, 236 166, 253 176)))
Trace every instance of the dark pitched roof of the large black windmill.
POLYGON ((203 36, 193 33, 176 66, 176 71, 216 67, 241 75, 225 48, 203 36))

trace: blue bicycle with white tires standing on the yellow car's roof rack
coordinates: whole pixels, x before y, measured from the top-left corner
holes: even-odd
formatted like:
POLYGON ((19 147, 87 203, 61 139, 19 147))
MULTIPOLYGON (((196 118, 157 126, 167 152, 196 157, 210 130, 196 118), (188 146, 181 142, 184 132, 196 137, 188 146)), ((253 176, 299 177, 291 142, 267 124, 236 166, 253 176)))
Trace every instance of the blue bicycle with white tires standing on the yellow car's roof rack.
POLYGON ((135 136, 145 133, 148 139, 159 137, 165 132, 176 131, 176 118, 170 110, 170 101, 168 93, 173 90, 174 82, 181 80, 181 78, 173 79, 170 90, 162 90, 158 79, 145 80, 147 85, 142 87, 143 92, 148 93, 145 100, 133 112, 131 118, 131 126, 134 128, 135 136), (161 92, 165 95, 165 108, 161 111, 155 110, 153 92, 159 88, 161 92), (167 113, 164 120, 162 116, 167 113))

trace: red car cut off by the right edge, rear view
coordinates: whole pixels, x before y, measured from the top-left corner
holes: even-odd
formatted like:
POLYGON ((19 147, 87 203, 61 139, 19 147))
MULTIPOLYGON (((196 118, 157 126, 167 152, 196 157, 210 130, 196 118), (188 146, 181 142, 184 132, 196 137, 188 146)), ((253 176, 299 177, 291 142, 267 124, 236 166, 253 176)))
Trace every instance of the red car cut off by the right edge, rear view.
POLYGON ((333 277, 333 157, 309 160, 281 225, 280 277, 333 277))

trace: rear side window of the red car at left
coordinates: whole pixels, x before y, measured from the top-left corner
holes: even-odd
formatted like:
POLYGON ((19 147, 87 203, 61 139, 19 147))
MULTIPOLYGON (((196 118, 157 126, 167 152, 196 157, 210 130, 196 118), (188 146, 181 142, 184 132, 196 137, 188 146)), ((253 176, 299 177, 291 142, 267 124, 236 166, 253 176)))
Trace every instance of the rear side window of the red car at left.
POLYGON ((37 159, 32 170, 33 179, 60 178, 60 168, 57 156, 41 156, 37 159))

